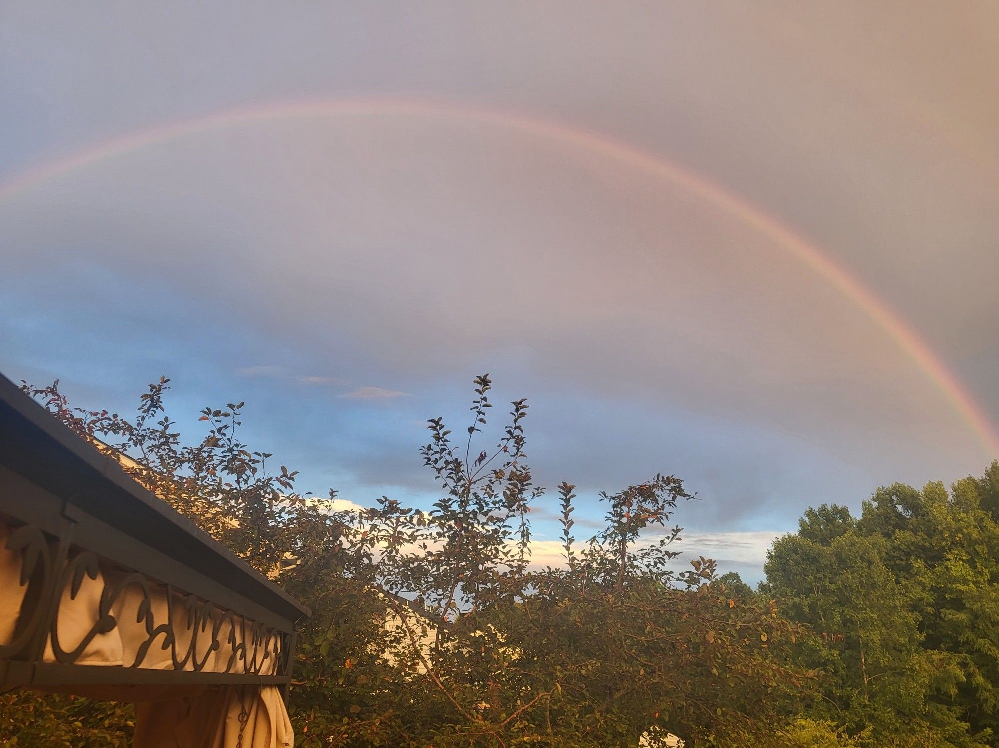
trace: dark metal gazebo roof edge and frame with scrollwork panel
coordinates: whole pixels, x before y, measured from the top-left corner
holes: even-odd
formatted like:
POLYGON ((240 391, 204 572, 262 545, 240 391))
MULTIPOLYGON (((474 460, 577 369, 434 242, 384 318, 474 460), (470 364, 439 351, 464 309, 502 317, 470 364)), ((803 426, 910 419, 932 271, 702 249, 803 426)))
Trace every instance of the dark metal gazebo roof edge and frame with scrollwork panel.
POLYGON ((13 635, 0 643, 0 687, 257 684, 287 697, 296 625, 308 608, 3 376, 0 522, 6 550, 20 555, 23 588, 13 635), (103 581, 98 614, 83 641, 64 646, 66 589, 75 597, 87 579, 103 581), (89 641, 118 625, 113 608, 126 590, 139 600, 133 623, 148 634, 134 661, 81 663, 89 641), (184 630, 175 630, 179 620, 184 630), (143 666, 154 647, 161 656, 169 649, 167 667, 143 666), (227 661, 207 667, 214 652, 227 661))

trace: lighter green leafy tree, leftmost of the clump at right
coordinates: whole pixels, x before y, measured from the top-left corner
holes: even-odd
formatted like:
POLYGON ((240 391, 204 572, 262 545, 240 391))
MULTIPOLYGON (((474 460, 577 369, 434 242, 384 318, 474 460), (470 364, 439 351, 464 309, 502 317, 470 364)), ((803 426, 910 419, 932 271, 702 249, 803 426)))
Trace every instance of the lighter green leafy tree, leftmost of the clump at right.
POLYGON ((911 600, 884 552, 881 539, 851 530, 827 544, 789 536, 767 556, 770 593, 816 634, 797 643, 794 659, 828 676, 809 711, 870 745, 927 736, 962 745, 965 725, 929 701, 941 658, 922 648, 911 600))

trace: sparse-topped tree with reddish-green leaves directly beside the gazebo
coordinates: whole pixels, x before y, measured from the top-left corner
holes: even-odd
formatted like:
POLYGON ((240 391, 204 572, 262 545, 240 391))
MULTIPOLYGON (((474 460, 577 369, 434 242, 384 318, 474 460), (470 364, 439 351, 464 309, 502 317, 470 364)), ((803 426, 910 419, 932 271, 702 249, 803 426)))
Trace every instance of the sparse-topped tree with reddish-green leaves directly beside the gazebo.
MULTIPOLYGON (((72 408, 58 383, 29 391, 312 608, 290 702, 302 745, 626 746, 657 728, 688 745, 778 746, 801 733, 789 717, 816 678, 790 652, 804 633, 774 600, 729 590, 713 561, 674 569, 669 523, 694 499, 679 479, 601 495, 604 530, 585 544, 572 536, 574 487, 561 484, 565 564, 531 565, 542 489, 526 462, 527 404, 514 401, 481 449, 488 375, 460 439, 429 422, 422 455, 441 499, 364 512, 338 511, 334 492, 296 493, 296 471, 240 441, 243 403, 206 408, 206 434, 182 441, 168 389, 152 385, 134 420, 72 408)), ((28 701, 65 717, 61 702, 22 695, 4 702, 6 719, 28 701)), ((85 703, 96 722, 117 718, 85 703)))

